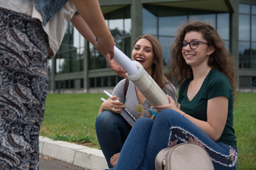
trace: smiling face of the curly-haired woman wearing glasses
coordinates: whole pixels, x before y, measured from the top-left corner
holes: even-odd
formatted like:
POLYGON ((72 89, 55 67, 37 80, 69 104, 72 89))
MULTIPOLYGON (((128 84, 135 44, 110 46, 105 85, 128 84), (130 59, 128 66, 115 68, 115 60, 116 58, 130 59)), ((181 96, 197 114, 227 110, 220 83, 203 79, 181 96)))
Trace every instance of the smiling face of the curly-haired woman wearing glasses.
MULTIPOLYGON (((186 33, 184 37, 184 42, 191 42, 192 40, 198 40, 201 42, 207 42, 201 33, 196 31, 191 31, 186 33)), ((207 65, 210 54, 214 52, 214 47, 209 46, 205 43, 199 43, 196 49, 191 49, 189 45, 183 47, 182 55, 186 64, 191 67, 198 67, 201 65, 207 65)))

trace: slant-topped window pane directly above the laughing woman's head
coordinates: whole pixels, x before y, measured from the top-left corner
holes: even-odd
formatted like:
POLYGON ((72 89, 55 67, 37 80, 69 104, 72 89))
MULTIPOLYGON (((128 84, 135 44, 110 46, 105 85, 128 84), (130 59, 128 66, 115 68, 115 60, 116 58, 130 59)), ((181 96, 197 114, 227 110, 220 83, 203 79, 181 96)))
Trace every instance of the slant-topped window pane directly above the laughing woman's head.
POLYGON ((152 34, 156 35, 157 34, 157 18, 154 16, 152 13, 147 11, 145 8, 143 8, 142 11, 142 33, 146 34, 152 34))

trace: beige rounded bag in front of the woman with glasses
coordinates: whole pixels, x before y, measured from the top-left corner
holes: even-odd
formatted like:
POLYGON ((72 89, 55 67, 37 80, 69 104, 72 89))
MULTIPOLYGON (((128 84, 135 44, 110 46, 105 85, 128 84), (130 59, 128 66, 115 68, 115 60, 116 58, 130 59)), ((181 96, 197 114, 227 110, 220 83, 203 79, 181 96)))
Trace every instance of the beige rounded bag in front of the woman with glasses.
POLYGON ((199 145, 186 142, 161 149, 155 166, 156 170, 214 170, 208 152, 199 145))

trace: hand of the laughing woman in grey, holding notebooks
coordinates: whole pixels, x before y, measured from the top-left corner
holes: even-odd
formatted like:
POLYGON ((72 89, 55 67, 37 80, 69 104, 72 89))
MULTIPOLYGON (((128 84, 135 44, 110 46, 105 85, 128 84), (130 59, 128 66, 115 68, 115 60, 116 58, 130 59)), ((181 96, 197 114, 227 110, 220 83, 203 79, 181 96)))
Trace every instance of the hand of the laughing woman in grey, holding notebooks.
POLYGON ((102 103, 100 107, 99 115, 102 111, 112 111, 113 113, 122 113, 122 108, 125 108, 124 104, 121 103, 117 96, 112 96, 107 101, 102 103))

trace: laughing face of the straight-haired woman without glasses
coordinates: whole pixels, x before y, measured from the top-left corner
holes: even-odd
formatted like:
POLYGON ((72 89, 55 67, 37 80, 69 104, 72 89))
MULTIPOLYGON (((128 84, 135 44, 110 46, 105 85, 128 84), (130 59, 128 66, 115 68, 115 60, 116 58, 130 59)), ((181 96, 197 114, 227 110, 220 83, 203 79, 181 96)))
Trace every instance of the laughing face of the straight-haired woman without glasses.
POLYGON ((153 47, 149 40, 139 39, 132 50, 132 60, 142 64, 146 72, 151 75, 154 64, 153 47))

